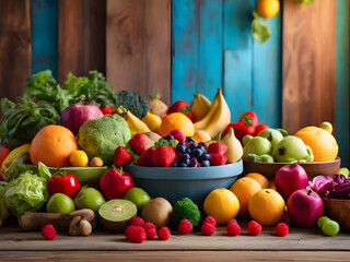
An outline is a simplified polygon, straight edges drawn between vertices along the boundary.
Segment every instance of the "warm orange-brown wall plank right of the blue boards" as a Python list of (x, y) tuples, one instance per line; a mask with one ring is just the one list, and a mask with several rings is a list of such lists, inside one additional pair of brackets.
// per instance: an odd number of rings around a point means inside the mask
[(335, 123), (336, 1), (283, 1), (282, 128)]

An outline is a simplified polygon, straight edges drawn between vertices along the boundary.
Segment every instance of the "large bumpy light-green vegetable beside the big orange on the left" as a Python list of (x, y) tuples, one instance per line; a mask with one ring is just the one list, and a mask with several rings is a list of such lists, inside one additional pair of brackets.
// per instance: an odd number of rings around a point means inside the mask
[(130, 140), (130, 129), (126, 120), (118, 115), (105, 115), (90, 119), (79, 129), (78, 144), (89, 159), (97, 156), (105, 165), (114, 163), (114, 153), (119, 145)]

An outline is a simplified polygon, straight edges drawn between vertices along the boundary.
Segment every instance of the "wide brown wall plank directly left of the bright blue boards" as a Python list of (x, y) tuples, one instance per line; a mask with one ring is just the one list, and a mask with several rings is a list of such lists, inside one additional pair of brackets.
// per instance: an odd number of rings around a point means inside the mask
[(107, 0), (107, 81), (170, 103), (171, 1)]

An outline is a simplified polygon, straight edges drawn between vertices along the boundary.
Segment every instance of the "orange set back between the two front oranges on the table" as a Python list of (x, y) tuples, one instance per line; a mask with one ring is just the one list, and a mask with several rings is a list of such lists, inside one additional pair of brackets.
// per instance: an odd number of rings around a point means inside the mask
[(260, 183), (253, 178), (244, 177), (235, 181), (231, 186), (230, 190), (237, 196), (240, 201), (238, 216), (248, 218), (249, 217), (249, 211), (248, 211), (249, 200), (256, 192), (261, 190)]

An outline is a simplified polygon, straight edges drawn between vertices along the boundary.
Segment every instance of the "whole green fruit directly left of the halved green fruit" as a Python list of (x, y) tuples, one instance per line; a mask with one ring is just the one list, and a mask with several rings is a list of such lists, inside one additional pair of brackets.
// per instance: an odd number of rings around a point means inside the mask
[(90, 209), (97, 213), (98, 209), (105, 203), (102, 193), (94, 188), (83, 188), (74, 199), (75, 206), (79, 210)]

